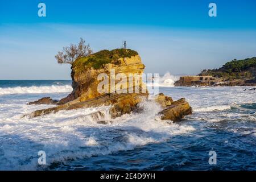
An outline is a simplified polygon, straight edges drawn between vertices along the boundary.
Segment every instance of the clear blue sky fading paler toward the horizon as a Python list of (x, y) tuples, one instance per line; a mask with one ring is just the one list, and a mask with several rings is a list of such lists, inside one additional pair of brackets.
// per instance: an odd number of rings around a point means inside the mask
[[(46, 17), (38, 16), (38, 3)], [(217, 5), (217, 17), (208, 5)], [(94, 52), (127, 41), (146, 72), (196, 74), (256, 56), (256, 1), (0, 1), (0, 79), (69, 79), (57, 51), (82, 37)]]

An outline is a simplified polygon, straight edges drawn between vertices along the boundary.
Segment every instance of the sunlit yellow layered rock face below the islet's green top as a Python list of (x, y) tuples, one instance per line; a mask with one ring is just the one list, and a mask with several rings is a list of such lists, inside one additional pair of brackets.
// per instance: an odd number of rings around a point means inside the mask
[[(114, 71), (112, 77), (116, 77), (118, 73), (125, 74), (127, 77), (127, 89), (129, 88), (129, 75), (137, 73), (143, 73), (145, 65), (142, 64), (141, 57), (131, 56), (125, 58), (119, 58), (113, 60), (112, 63), (106, 64), (102, 69), (84, 69), (82, 71), (72, 70), (71, 76), (73, 80), (73, 92), (68, 97), (63, 98), (59, 104), (65, 104), (78, 98), (79, 101), (86, 101), (98, 96), (102, 96), (105, 93), (99, 93), (97, 88), (101, 82), (97, 79), (100, 73), (106, 73), (110, 80), (110, 74)], [(131, 79), (131, 78), (130, 78)], [(113, 86), (117, 85), (118, 81), (115, 80), (115, 84), (110, 84), (109, 81), (109, 93), (111, 90), (116, 90)], [(139, 87), (145, 86), (142, 81), (139, 83)], [(128, 92), (127, 92), (128, 93)]]

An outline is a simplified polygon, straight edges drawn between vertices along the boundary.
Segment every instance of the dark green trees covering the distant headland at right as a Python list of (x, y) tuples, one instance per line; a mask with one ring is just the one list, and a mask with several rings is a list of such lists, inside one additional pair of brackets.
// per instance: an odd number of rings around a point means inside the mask
[(256, 57), (229, 61), (218, 69), (204, 69), (199, 75), (253, 80), (256, 77)]

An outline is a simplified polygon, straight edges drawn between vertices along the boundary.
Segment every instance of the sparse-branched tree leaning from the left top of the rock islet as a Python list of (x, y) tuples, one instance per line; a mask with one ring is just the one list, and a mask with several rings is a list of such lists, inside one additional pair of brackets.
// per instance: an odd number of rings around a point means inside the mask
[(55, 56), (58, 63), (68, 63), (73, 64), (73, 62), (79, 57), (85, 57), (92, 53), (92, 49), (90, 45), (85, 45), (85, 40), (80, 38), (80, 42), (78, 45), (71, 44), (69, 47), (63, 47), (62, 52), (58, 52)]

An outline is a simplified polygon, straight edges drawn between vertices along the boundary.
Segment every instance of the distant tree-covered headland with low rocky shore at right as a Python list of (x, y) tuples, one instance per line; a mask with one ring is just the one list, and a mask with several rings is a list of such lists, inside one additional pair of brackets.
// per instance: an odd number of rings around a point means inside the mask
[(256, 86), (256, 57), (229, 61), (197, 76), (183, 76), (175, 86)]

